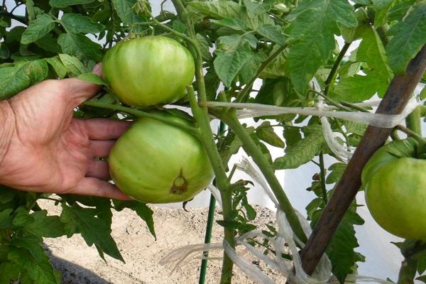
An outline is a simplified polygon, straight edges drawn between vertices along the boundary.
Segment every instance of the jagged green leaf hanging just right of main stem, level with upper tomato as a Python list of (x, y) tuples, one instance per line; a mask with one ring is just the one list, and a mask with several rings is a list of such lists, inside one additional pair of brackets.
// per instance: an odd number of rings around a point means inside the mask
[(241, 68), (253, 56), (251, 46), (257, 40), (253, 35), (226, 35), (220, 38), (219, 49), (216, 50), (217, 58), (214, 60), (214, 70), (226, 87), (239, 73)]

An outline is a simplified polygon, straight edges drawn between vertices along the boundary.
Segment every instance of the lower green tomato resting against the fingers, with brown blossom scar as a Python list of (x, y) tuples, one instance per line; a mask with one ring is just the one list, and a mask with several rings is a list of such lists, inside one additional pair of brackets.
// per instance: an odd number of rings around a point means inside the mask
[[(173, 121), (190, 121), (158, 113)], [(192, 199), (213, 179), (202, 143), (191, 133), (155, 119), (136, 121), (109, 154), (109, 172), (121, 191), (146, 203)]]

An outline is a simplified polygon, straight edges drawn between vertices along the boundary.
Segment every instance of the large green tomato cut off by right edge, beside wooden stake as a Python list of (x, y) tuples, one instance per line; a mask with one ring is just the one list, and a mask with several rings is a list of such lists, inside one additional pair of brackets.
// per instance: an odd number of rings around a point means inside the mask
[(413, 140), (380, 148), (362, 173), (366, 204), (376, 222), (404, 239), (426, 239), (426, 160)]

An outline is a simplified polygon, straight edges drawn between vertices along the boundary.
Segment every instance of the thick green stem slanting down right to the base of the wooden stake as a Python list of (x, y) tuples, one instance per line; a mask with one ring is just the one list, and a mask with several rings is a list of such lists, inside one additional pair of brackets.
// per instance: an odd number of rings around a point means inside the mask
[(281, 187), (280, 182), (275, 176), (271, 165), (268, 163), (268, 160), (266, 160), (265, 156), (263, 155), (263, 153), (261, 153), (256, 143), (254, 143), (249, 133), (246, 131), (246, 129), (244, 129), (244, 126), (239, 123), (239, 120), (235, 115), (235, 111), (229, 111), (222, 115), (219, 114), (219, 116), (222, 121), (228, 124), (229, 128), (231, 128), (232, 131), (234, 131), (234, 133), (236, 134), (236, 136), (238, 136), (238, 138), (243, 142), (244, 151), (246, 151), (247, 154), (251, 155), (253, 161), (261, 169), (263, 176), (266, 178), (266, 181), (271, 186), (271, 190), (273, 191), (273, 194), (275, 195), (276, 199), (278, 200), (278, 203), (280, 204), (280, 209), (285, 212), (288, 222), (290, 223), (291, 228), (295, 232), (295, 235), (297, 236), (297, 238), (300, 239), (300, 241), (305, 242), (307, 238), (302, 229), (302, 226), (300, 225), (299, 219), (297, 218), (295, 209), (293, 209), (290, 200), (288, 200), (288, 197), (285, 195), (283, 187)]

